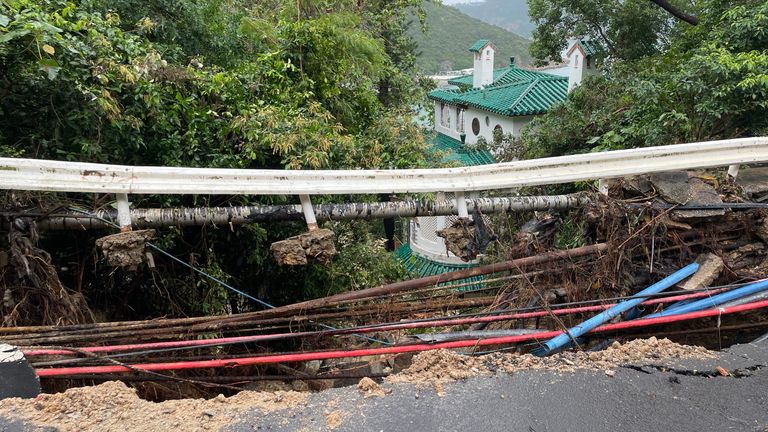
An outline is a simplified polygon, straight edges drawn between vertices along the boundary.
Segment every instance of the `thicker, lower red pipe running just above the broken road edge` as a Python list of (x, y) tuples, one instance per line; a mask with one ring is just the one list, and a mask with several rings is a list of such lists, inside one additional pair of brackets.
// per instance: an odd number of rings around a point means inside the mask
[[(687, 321), (697, 318), (706, 318), (718, 315), (727, 315), (737, 312), (744, 312), (749, 310), (755, 310), (768, 307), (768, 300), (748, 303), (739, 306), (732, 306), (728, 308), (707, 309), (698, 312), (690, 312), (687, 314), (670, 315), (658, 318), (647, 318), (634, 321), (624, 321), (615, 324), (606, 324), (600, 326), (590, 333), (594, 332), (608, 332), (614, 330), (623, 330), (637, 327), (647, 327), (657, 324), (669, 324), (673, 322)], [(170, 362), (170, 363), (147, 363), (132, 365), (138, 369), (144, 369), (148, 371), (164, 371), (164, 370), (180, 370), (180, 369), (200, 369), (200, 368), (217, 368), (217, 367), (236, 367), (236, 366), (248, 366), (256, 364), (272, 364), (272, 363), (287, 363), (287, 362), (302, 362), (310, 360), (326, 360), (334, 358), (348, 358), (348, 357), (363, 357), (371, 355), (382, 354), (398, 354), (407, 352), (418, 352), (435, 349), (447, 349), (447, 348), (468, 348), (474, 346), (486, 346), (486, 345), (500, 345), (509, 343), (519, 343), (531, 340), (549, 339), (561, 334), (561, 331), (550, 331), (545, 333), (536, 333), (530, 335), (517, 335), (517, 336), (503, 336), (487, 339), (471, 339), (451, 342), (441, 342), (434, 344), (413, 344), (413, 345), (400, 345), (390, 346), (382, 348), (368, 348), (359, 350), (347, 350), (347, 351), (320, 351), (320, 352), (308, 352), (308, 353), (293, 353), (293, 354), (277, 354), (277, 355), (265, 355), (259, 357), (245, 357), (236, 359), (219, 359), (219, 360), (201, 360), (201, 361), (187, 361), (187, 362)], [(69, 367), (69, 368), (51, 368), (51, 369), (37, 369), (35, 372), (39, 377), (56, 376), (56, 375), (77, 375), (77, 374), (103, 374), (103, 373), (117, 373), (117, 372), (132, 372), (133, 369), (129, 369), (124, 366), (82, 366), (82, 367)]]

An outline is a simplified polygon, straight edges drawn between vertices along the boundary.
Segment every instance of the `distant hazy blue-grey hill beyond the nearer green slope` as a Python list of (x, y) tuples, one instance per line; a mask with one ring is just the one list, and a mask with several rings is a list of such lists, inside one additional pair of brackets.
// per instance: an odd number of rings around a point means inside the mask
[(454, 5), (461, 12), (489, 24), (497, 25), (521, 36), (530, 38), (536, 26), (528, 16), (526, 0), (485, 0)]

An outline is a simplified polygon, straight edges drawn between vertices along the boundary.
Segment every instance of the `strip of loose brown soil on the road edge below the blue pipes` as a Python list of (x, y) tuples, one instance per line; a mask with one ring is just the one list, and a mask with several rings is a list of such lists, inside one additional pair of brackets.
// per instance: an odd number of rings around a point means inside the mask
[(513, 373), (526, 369), (572, 372), (576, 369), (609, 370), (625, 363), (657, 362), (673, 358), (715, 358), (717, 353), (702, 347), (680, 345), (669, 339), (637, 339), (614, 342), (603, 351), (565, 352), (549, 357), (530, 354), (488, 354), (471, 357), (453, 351), (426, 351), (413, 358), (412, 365), (390, 382), (411, 382), (420, 386), (456, 381), (495, 372)]

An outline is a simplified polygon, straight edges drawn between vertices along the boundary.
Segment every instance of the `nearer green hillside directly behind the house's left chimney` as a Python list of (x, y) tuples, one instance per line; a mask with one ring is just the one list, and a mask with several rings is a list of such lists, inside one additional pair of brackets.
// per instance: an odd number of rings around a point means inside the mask
[(425, 73), (472, 67), (472, 56), (467, 49), (478, 39), (489, 39), (496, 45), (496, 66), (509, 64), (509, 57), (518, 58), (518, 64), (529, 64), (530, 41), (461, 13), (458, 9), (425, 2), (427, 32), (413, 25), (410, 33), (418, 43), (417, 67)]

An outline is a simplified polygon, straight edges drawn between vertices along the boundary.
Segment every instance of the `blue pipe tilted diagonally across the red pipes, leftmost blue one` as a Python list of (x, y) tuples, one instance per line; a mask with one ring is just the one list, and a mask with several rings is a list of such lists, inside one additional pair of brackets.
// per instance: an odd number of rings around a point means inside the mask
[(571, 342), (571, 339), (575, 339), (583, 335), (584, 333), (587, 333), (588, 331), (594, 329), (600, 324), (613, 319), (614, 317), (618, 316), (622, 312), (626, 312), (629, 309), (632, 309), (633, 307), (647, 300), (647, 297), (642, 297), (642, 296), (657, 294), (661, 291), (664, 291), (665, 289), (671, 287), (672, 285), (696, 273), (698, 269), (699, 269), (699, 265), (697, 263), (688, 264), (687, 266), (681, 268), (680, 270), (672, 273), (671, 275), (665, 277), (664, 279), (656, 282), (655, 284), (635, 294), (635, 296), (637, 296), (638, 298), (623, 301), (617, 304), (616, 306), (613, 306), (593, 316), (592, 318), (582, 322), (581, 324), (578, 324), (577, 326), (568, 329), (568, 331), (548, 340), (544, 344), (544, 346), (531, 351), (531, 354), (536, 356), (545, 356), (562, 349), (568, 343)]

